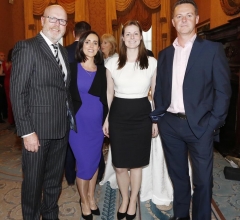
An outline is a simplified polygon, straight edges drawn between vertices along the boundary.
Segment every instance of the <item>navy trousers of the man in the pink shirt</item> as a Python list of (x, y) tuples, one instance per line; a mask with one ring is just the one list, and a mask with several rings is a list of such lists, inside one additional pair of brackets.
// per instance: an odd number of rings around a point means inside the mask
[(171, 113), (160, 117), (159, 133), (169, 176), (173, 183), (173, 212), (176, 217), (187, 217), (191, 202), (188, 155), (192, 164), (193, 196), (192, 219), (211, 219), (213, 129), (208, 127), (201, 138), (196, 138), (188, 121)]

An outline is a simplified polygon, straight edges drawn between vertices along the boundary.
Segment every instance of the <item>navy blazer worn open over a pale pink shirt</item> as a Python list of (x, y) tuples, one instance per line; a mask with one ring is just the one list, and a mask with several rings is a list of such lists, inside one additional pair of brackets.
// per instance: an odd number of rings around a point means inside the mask
[[(217, 55), (217, 56), (216, 56)], [(159, 53), (154, 94), (155, 110), (150, 116), (166, 112), (171, 102), (173, 45)], [(189, 125), (200, 138), (208, 126), (223, 126), (231, 96), (230, 70), (220, 43), (197, 37), (183, 81), (183, 102)]]

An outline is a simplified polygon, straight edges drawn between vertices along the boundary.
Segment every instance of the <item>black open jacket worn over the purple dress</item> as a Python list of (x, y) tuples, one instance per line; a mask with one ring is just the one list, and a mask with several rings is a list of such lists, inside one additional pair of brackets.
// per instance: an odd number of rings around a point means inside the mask
[[(77, 73), (78, 63), (70, 63), (71, 70), (71, 83), (70, 93), (72, 97), (72, 103), (75, 114), (78, 112), (82, 105), (81, 94), (79, 94), (77, 86)], [(106, 79), (106, 68), (104, 65), (97, 66), (97, 72), (93, 79), (91, 88), (88, 91), (89, 94), (100, 97), (100, 101), (103, 104), (103, 123), (108, 114), (108, 103), (107, 103), (107, 79)]]

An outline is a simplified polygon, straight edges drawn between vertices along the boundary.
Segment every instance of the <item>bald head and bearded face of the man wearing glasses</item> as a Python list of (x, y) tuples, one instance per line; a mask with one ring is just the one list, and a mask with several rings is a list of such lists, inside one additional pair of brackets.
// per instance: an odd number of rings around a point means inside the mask
[(59, 5), (52, 5), (46, 8), (43, 16), (41, 17), (43, 34), (52, 43), (57, 43), (65, 34), (66, 26), (60, 25), (59, 21), (56, 23), (49, 22), (49, 18), (47, 18), (47, 16), (67, 20), (67, 14), (65, 10)]

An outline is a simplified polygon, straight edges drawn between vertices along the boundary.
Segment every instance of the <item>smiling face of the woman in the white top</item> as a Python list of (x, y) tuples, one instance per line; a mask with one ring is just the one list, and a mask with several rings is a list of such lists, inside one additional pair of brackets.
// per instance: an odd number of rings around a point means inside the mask
[(127, 48), (137, 48), (142, 40), (139, 28), (136, 25), (129, 25), (125, 27), (122, 39)]

